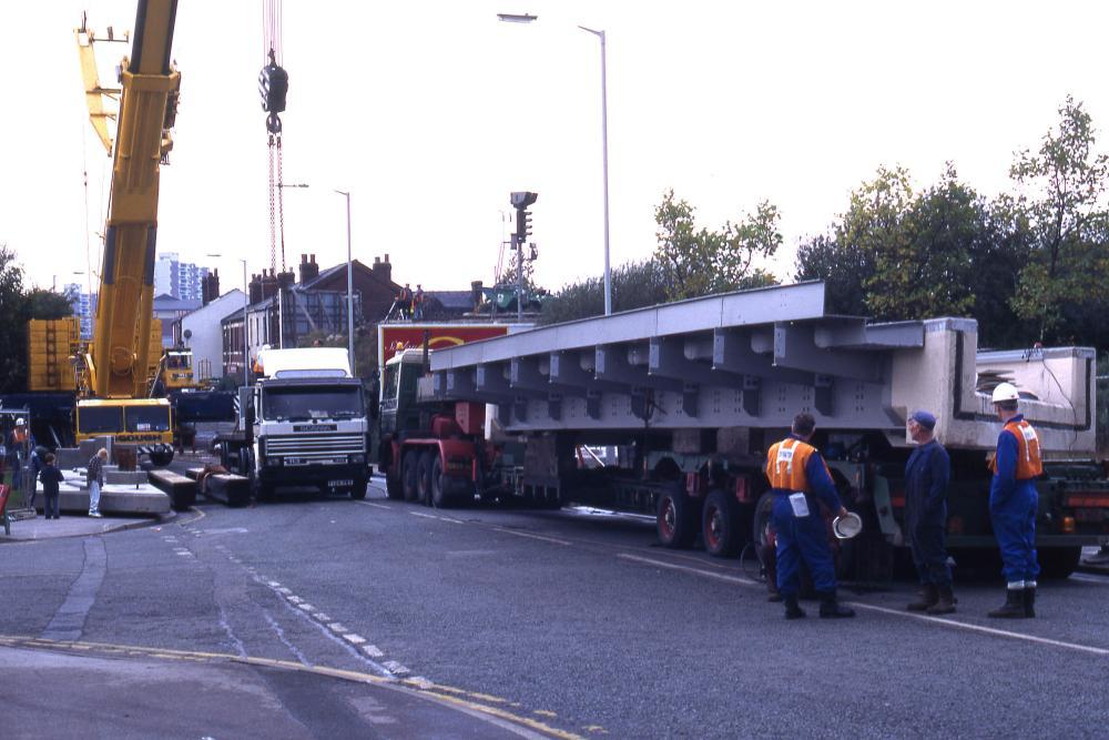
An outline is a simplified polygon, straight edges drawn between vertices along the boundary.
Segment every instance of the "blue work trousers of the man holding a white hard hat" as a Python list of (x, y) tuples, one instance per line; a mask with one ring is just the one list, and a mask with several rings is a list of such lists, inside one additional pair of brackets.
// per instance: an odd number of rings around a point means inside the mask
[(774, 497), (771, 521), (777, 531), (777, 590), (782, 596), (791, 596), (800, 590), (797, 570), (802, 559), (808, 566), (808, 574), (817, 592), (835, 590), (835, 565), (820, 504), (812, 496), (806, 498), (808, 516), (797, 517), (790, 506), (788, 493)]

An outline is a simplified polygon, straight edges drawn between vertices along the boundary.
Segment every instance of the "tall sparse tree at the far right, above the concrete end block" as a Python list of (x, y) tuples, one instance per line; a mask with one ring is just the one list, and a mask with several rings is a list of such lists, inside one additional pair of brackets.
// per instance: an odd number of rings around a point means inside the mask
[(1009, 171), (1034, 235), (1011, 305), (1037, 323), (1041, 341), (1070, 334), (1065, 320), (1083, 303), (1109, 300), (1109, 158), (1095, 152), (1092, 120), (1080, 102), (1068, 95), (1058, 112), (1058, 128), (1036, 152), (1019, 152)]

